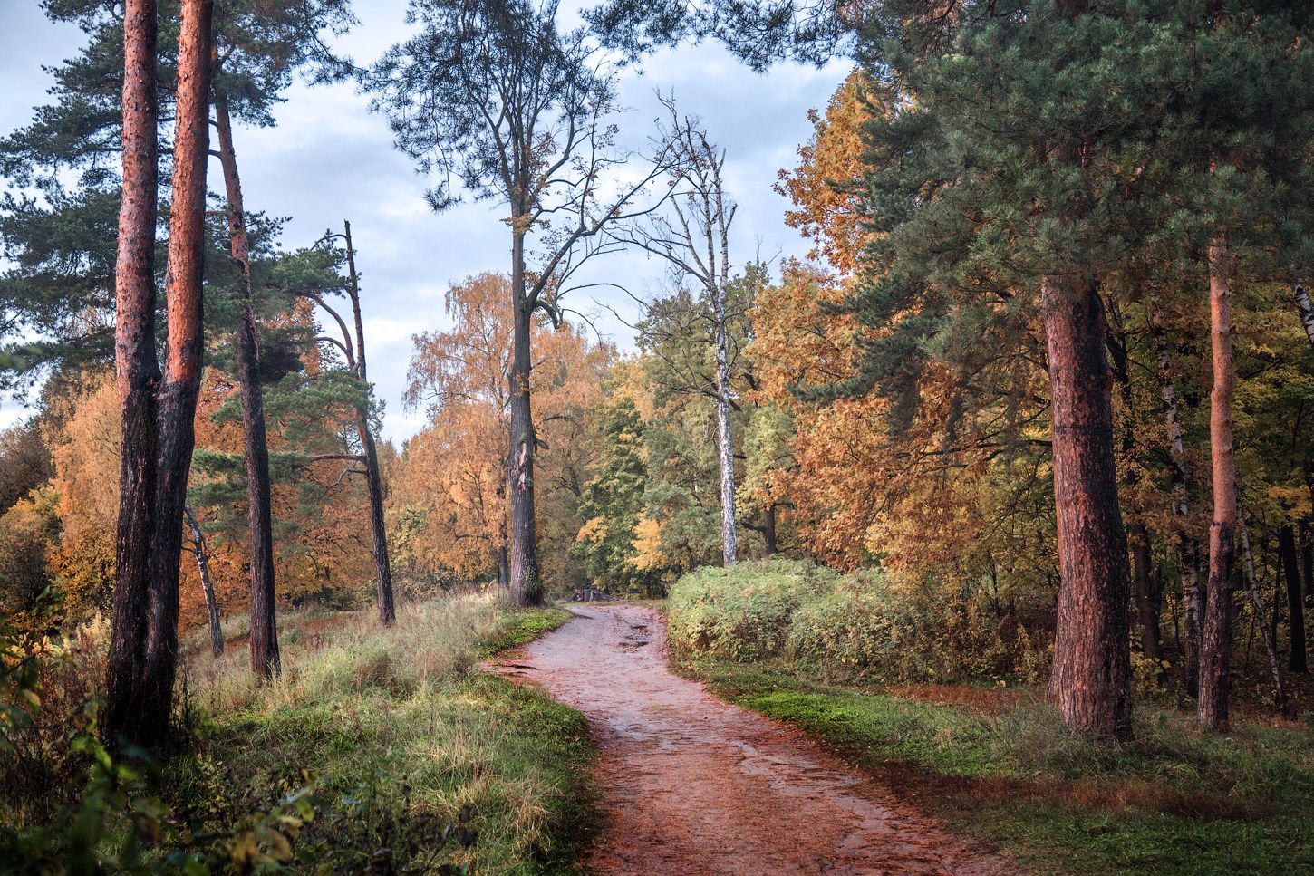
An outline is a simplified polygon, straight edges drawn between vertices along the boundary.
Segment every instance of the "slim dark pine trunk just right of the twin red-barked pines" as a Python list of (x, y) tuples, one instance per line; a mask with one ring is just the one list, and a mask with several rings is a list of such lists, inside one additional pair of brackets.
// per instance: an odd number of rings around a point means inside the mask
[(273, 508), (269, 498), (269, 444), (264, 423), (260, 347), (252, 311), (251, 251), (247, 239), (242, 179), (233, 148), (233, 122), (226, 99), (214, 101), (219, 162), (229, 201), (233, 261), (242, 273), (244, 297), (238, 324), (238, 380), (242, 383), (242, 440), (247, 469), (247, 532), (251, 553), (251, 671), (263, 678), (280, 667), (276, 591), (273, 580)]

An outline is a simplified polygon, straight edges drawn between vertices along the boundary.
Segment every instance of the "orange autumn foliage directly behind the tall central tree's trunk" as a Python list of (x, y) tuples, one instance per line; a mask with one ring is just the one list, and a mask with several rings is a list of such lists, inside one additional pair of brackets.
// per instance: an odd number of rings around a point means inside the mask
[[(407, 402), (424, 405), (430, 424), (397, 461), (389, 500), (401, 563), (413, 577), (497, 575), (507, 538), (507, 284), (497, 273), (468, 277), (447, 296), (453, 327), (415, 336)], [(540, 556), (549, 582), (573, 582), (568, 548), (583, 525), (576, 502), (589, 464), (586, 419), (602, 398), (615, 349), (590, 344), (569, 323), (555, 330), (543, 319), (531, 344)]]

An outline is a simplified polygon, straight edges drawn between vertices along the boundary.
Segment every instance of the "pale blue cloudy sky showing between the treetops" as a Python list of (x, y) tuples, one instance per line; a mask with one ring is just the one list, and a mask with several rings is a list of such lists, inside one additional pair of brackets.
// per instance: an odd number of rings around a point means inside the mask
[[(372, 62), (411, 33), (406, 0), (355, 5), (360, 24), (334, 47), (357, 63)], [(0, 0), (0, 131), (30, 121), (51, 83), (42, 66), (72, 56), (80, 45), (81, 33), (46, 20), (38, 0)], [(656, 92), (674, 92), (681, 112), (699, 117), (725, 148), (727, 190), (740, 205), (732, 261), (802, 256), (808, 247), (784, 225), (788, 205), (773, 185), (781, 168), (798, 163), (796, 150), (811, 137), (808, 109), (824, 108), (846, 72), (846, 63), (833, 62), (821, 70), (790, 64), (754, 74), (716, 45), (666, 50), (641, 71), (620, 72), (622, 144), (645, 146), (662, 114)], [(422, 410), (402, 405), (411, 338), (449, 326), (444, 294), (453, 282), (506, 269), (505, 208), (465, 202), (435, 214), (423, 197), (430, 183), (393, 147), (385, 118), (351, 84), (298, 83), (285, 97), (275, 113), (277, 126), (234, 131), (246, 206), (289, 219), (286, 248), (309, 246), (326, 229), (351, 221), (369, 377), (385, 403), (384, 437), (401, 444), (424, 426)], [(210, 188), (222, 190), (217, 165), (212, 162)], [(622, 252), (590, 264), (581, 281), (614, 282), (650, 298), (668, 277), (660, 260)], [(633, 348), (625, 323), (635, 322), (639, 305), (624, 292), (590, 289), (566, 303), (589, 314), (604, 339)], [(22, 402), (0, 397), (0, 428), (26, 415)]]

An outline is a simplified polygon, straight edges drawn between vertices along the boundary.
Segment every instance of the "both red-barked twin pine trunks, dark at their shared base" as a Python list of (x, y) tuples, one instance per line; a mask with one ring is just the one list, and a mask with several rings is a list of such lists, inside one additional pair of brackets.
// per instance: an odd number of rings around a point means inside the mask
[(116, 364), (122, 474), (113, 633), (102, 726), (110, 739), (163, 742), (177, 662), (183, 504), (201, 381), (201, 271), (209, 151), (212, 0), (185, 0), (179, 37), (173, 197), (163, 373), (155, 356), (158, 185), (156, 9), (129, 0), (124, 20), (124, 196), (116, 272)]

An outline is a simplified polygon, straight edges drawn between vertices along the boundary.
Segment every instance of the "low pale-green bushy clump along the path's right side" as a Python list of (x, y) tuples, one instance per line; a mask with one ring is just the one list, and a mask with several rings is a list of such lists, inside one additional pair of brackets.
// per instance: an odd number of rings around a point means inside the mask
[(669, 603), (681, 658), (783, 661), (828, 680), (1034, 680), (1043, 672), (1026, 630), (934, 588), (904, 590), (879, 570), (851, 575), (771, 559), (699, 569)]

